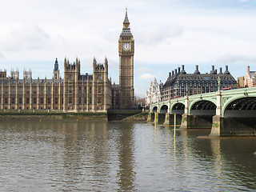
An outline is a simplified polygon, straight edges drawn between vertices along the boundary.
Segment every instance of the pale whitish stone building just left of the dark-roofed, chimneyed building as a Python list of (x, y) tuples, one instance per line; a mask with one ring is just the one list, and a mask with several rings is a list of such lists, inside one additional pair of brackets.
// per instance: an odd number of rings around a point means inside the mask
[(157, 82), (157, 79), (154, 78), (150, 82), (149, 90), (146, 90), (146, 106), (150, 106), (151, 103), (162, 101), (162, 82)]

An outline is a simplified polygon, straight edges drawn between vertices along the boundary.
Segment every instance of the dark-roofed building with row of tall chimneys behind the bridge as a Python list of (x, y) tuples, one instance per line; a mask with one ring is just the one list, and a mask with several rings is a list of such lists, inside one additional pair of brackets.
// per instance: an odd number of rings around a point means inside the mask
[(214, 92), (218, 90), (218, 81), (221, 90), (237, 86), (237, 82), (230, 74), (228, 66), (226, 66), (224, 73), (222, 73), (222, 68), (217, 73), (217, 70), (214, 70), (214, 66), (212, 66), (209, 74), (201, 74), (198, 66), (195, 66), (194, 73), (187, 74), (184, 65), (182, 65), (182, 70), (178, 67), (178, 70), (175, 69), (169, 73), (169, 77), (162, 86), (162, 99)]

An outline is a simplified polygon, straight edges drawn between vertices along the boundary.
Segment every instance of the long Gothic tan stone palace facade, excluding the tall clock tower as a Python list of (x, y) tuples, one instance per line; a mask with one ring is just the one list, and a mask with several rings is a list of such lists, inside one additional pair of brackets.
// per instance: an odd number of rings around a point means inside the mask
[[(58, 60), (52, 79), (0, 79), (1, 110), (63, 110), (64, 112), (98, 111), (111, 108), (111, 83), (108, 62), (98, 64), (94, 58), (93, 74), (80, 74), (80, 61), (64, 61), (64, 78), (59, 77)], [(29, 76), (29, 77), (28, 77)]]

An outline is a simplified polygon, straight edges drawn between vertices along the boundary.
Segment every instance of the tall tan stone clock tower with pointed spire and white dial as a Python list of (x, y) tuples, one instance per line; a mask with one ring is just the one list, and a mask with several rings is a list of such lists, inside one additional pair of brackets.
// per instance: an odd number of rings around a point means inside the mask
[(118, 41), (120, 109), (134, 109), (134, 36), (127, 15)]

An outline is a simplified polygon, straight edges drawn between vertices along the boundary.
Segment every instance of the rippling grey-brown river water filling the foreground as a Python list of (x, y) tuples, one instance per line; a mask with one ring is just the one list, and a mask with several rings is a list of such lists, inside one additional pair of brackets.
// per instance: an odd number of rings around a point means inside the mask
[(256, 190), (255, 138), (141, 122), (0, 122), (0, 191)]

